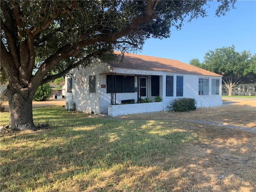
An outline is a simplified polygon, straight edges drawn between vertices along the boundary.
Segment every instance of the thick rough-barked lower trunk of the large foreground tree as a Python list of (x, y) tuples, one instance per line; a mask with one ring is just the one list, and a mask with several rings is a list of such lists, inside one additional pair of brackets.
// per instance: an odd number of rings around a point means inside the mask
[[(10, 107), (10, 120), (9, 126), (13, 130), (35, 130), (36, 126), (33, 122), (32, 114), (32, 100), (33, 96), (29, 92), (10, 92), (10, 89), (7, 88), (6, 92), (9, 107)], [(30, 96), (28, 96), (30, 95)]]

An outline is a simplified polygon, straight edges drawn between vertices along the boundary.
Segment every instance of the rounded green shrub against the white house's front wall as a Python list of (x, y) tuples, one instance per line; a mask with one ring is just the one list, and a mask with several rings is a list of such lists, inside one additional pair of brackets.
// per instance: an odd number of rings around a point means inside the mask
[(188, 112), (196, 110), (196, 100), (193, 98), (178, 98), (170, 102), (171, 106), (167, 106), (171, 111)]

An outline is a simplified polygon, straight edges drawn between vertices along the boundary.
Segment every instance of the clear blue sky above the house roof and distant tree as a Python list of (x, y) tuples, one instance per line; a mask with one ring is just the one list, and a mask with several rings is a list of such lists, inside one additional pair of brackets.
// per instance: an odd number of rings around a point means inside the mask
[[(213, 2), (215, 5), (217, 2)], [(232, 46), (236, 51), (256, 53), (256, 1), (239, 0), (236, 9), (225, 16), (215, 16), (216, 6), (208, 8), (208, 17), (184, 23), (182, 29), (173, 29), (168, 39), (149, 39), (137, 54), (176, 59), (189, 63), (193, 58), (200, 62), (209, 50)]]

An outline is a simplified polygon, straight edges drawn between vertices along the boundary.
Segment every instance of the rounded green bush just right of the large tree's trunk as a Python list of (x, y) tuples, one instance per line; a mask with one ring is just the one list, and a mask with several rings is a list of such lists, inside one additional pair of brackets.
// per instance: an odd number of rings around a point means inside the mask
[(51, 94), (52, 94), (52, 87), (50, 86), (50, 83), (46, 83), (37, 88), (33, 100), (46, 101), (50, 98)]

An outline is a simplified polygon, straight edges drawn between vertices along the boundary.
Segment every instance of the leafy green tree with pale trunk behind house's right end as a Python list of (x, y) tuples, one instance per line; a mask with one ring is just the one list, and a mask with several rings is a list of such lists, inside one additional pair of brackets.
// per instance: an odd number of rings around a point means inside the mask
[[(235, 51), (234, 45), (230, 47), (210, 50), (204, 56), (204, 62), (200, 68), (222, 75), (222, 82), (228, 88), (228, 95), (232, 95), (232, 89), (244, 82), (246, 78), (254, 78), (256, 74), (256, 56), (251, 57), (250, 51)], [(190, 64), (198, 65), (194, 60)], [(196, 66), (195, 65), (195, 66)]]

